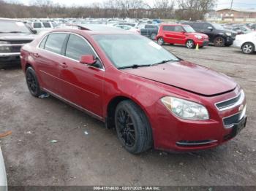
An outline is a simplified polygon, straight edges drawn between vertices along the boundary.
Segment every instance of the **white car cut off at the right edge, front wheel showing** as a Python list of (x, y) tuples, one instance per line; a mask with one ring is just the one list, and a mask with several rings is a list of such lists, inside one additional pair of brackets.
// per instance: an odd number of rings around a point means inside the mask
[(240, 48), (245, 54), (252, 54), (256, 51), (256, 31), (249, 34), (237, 35), (233, 46)]

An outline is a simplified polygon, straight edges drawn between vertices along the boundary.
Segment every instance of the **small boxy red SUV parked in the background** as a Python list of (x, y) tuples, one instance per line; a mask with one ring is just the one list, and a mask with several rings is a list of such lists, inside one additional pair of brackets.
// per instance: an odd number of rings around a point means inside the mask
[(195, 32), (188, 25), (161, 25), (157, 34), (157, 42), (159, 45), (169, 44), (184, 44), (187, 48), (195, 48), (208, 45), (209, 39), (206, 34)]

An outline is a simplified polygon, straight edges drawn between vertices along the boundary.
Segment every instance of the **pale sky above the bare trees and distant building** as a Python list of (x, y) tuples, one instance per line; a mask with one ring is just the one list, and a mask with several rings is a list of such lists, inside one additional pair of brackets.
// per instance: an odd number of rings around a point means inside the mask
[[(13, 0), (10, 0), (13, 1)], [(17, 0), (14, 0), (17, 1)], [(18, 0), (23, 4), (29, 4), (30, 0)], [(54, 3), (64, 4), (66, 6), (72, 5), (85, 5), (85, 4), (92, 4), (94, 2), (101, 3), (104, 0), (52, 0)], [(148, 4), (152, 4), (152, 0), (146, 0)], [(218, 0), (217, 1), (217, 9), (224, 9), (230, 8), (232, 0)], [(240, 8), (240, 9), (256, 9), (256, 0), (233, 0), (233, 8)]]

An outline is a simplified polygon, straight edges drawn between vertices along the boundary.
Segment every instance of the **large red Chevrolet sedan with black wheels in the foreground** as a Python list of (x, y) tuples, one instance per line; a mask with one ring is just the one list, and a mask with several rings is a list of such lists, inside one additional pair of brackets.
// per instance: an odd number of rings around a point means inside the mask
[(32, 95), (50, 93), (97, 117), (134, 154), (217, 147), (246, 125), (244, 91), (233, 79), (139, 34), (59, 29), (20, 57)]

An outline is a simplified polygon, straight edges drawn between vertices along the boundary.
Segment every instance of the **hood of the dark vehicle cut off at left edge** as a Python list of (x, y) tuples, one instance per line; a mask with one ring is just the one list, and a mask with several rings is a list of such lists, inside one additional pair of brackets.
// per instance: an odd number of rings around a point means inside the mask
[(12, 34), (12, 33), (3, 33), (0, 34), (0, 40), (4, 41), (23, 41), (23, 40), (34, 40), (36, 35), (34, 34)]

